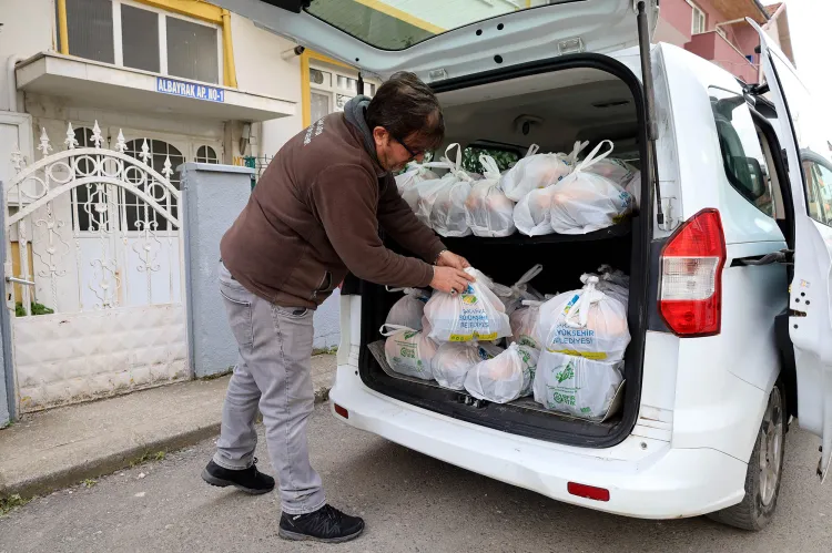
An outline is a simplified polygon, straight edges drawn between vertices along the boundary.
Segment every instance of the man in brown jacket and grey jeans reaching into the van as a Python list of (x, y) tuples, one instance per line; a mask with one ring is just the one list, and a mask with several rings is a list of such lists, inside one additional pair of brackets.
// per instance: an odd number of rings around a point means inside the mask
[[(356, 96), (290, 140), (270, 163), (220, 245), (220, 291), (240, 359), (229, 382), (216, 453), (202, 478), (252, 494), (274, 489), (257, 471), (260, 408), (280, 479), (278, 533), (343, 542), (364, 521), (326, 503), (310, 464), (313, 411), (312, 315), (347, 270), (396, 287), (464, 290), (473, 280), (399, 197), (392, 173), (442, 144), (436, 96), (412, 73), (397, 73), (376, 96)], [(397, 255), (378, 227), (422, 259)]]

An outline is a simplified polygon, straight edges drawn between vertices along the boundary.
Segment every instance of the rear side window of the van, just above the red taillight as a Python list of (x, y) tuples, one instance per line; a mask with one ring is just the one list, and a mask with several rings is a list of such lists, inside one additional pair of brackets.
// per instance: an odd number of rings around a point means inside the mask
[(773, 217), (771, 173), (745, 99), (723, 89), (708, 91), (728, 182), (758, 209)]

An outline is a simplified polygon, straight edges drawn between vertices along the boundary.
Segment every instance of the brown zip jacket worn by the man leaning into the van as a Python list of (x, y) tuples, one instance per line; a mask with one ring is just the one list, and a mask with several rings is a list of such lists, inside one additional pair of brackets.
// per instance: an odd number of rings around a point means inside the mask
[(281, 149), (220, 244), (223, 263), (240, 284), (283, 307), (312, 309), (347, 270), (382, 285), (430, 284), (430, 265), (390, 252), (378, 237), (381, 224), (430, 263), (444, 249), (368, 146), (361, 129), (334, 113)]

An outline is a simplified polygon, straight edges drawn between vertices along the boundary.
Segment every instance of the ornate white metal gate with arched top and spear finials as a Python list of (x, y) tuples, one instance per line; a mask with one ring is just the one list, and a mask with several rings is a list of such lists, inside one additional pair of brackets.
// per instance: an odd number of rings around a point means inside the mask
[(17, 171), (7, 209), (7, 306), (20, 411), (132, 391), (186, 378), (184, 243), (173, 167), (102, 147), (65, 150)]

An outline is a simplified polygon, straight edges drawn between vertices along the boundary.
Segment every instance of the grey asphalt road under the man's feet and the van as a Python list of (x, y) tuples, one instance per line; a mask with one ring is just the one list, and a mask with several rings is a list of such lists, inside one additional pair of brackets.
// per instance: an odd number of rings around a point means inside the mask
[[(261, 449), (261, 468), (272, 472)], [(0, 518), (0, 552), (832, 551), (832, 484), (819, 485), (816, 441), (797, 430), (787, 443), (775, 520), (760, 533), (707, 519), (642, 521), (558, 503), (351, 429), (325, 406), (312, 420), (311, 449), (329, 500), (367, 521), (357, 541), (278, 539), (276, 493), (252, 498), (202, 482), (213, 452), (207, 440)]]

